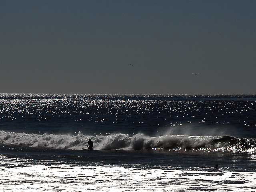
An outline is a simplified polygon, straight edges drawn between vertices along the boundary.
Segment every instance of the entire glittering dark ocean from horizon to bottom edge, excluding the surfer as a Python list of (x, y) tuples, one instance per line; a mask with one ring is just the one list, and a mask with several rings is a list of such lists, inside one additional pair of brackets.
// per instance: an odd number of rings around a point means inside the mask
[(256, 95), (0, 94), (0, 191), (252, 192), (255, 164)]

